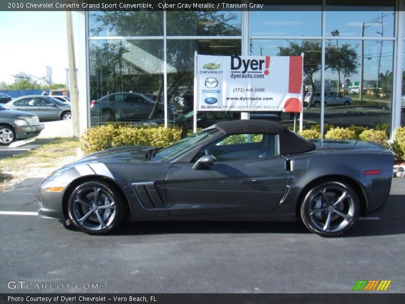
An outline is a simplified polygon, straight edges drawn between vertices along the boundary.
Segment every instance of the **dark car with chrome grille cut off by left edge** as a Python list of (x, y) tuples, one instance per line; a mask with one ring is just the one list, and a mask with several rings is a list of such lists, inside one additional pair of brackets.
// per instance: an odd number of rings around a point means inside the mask
[(36, 115), (10, 110), (0, 104), (0, 145), (9, 145), (14, 140), (38, 136), (44, 130)]

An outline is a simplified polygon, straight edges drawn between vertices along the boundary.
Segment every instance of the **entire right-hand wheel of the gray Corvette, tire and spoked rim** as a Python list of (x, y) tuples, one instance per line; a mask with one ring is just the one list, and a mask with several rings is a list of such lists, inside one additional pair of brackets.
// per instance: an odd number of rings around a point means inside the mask
[(301, 205), (301, 218), (311, 232), (321, 237), (337, 237), (356, 223), (359, 209), (359, 199), (353, 188), (345, 182), (332, 180), (309, 189)]

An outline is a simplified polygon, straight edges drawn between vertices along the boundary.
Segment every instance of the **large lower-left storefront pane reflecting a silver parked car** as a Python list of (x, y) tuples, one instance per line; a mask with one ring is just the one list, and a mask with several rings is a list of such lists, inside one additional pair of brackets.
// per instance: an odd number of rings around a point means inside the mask
[(91, 124), (147, 119), (163, 96), (163, 40), (90, 41), (89, 52)]

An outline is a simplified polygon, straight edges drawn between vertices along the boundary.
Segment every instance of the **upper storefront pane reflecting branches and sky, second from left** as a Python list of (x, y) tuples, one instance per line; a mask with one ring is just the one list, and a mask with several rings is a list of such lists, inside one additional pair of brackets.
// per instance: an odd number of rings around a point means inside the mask
[(239, 36), (241, 12), (169, 11), (169, 36)]

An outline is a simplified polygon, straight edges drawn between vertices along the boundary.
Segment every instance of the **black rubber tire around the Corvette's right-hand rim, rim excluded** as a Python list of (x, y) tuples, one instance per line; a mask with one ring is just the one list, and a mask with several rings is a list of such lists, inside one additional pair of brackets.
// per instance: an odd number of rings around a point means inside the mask
[[(313, 199), (313, 196), (316, 192), (318, 192), (321, 188), (325, 186), (340, 186), (345, 188), (347, 192), (350, 193), (351, 197), (353, 198), (354, 202), (354, 215), (352, 221), (344, 227), (342, 230), (337, 231), (337, 232), (325, 232), (325, 231), (320, 231), (313, 223), (309, 215), (309, 207), (310, 207), (310, 202)], [(344, 234), (346, 231), (348, 231), (356, 222), (359, 216), (359, 211), (360, 211), (360, 202), (358, 199), (358, 195), (356, 192), (353, 190), (353, 188), (347, 184), (346, 182), (342, 181), (326, 181), (323, 182), (317, 186), (312, 187), (307, 194), (305, 195), (304, 201), (301, 205), (301, 219), (304, 222), (305, 226), (313, 233), (320, 235), (322, 237), (337, 237), (342, 234)]]

